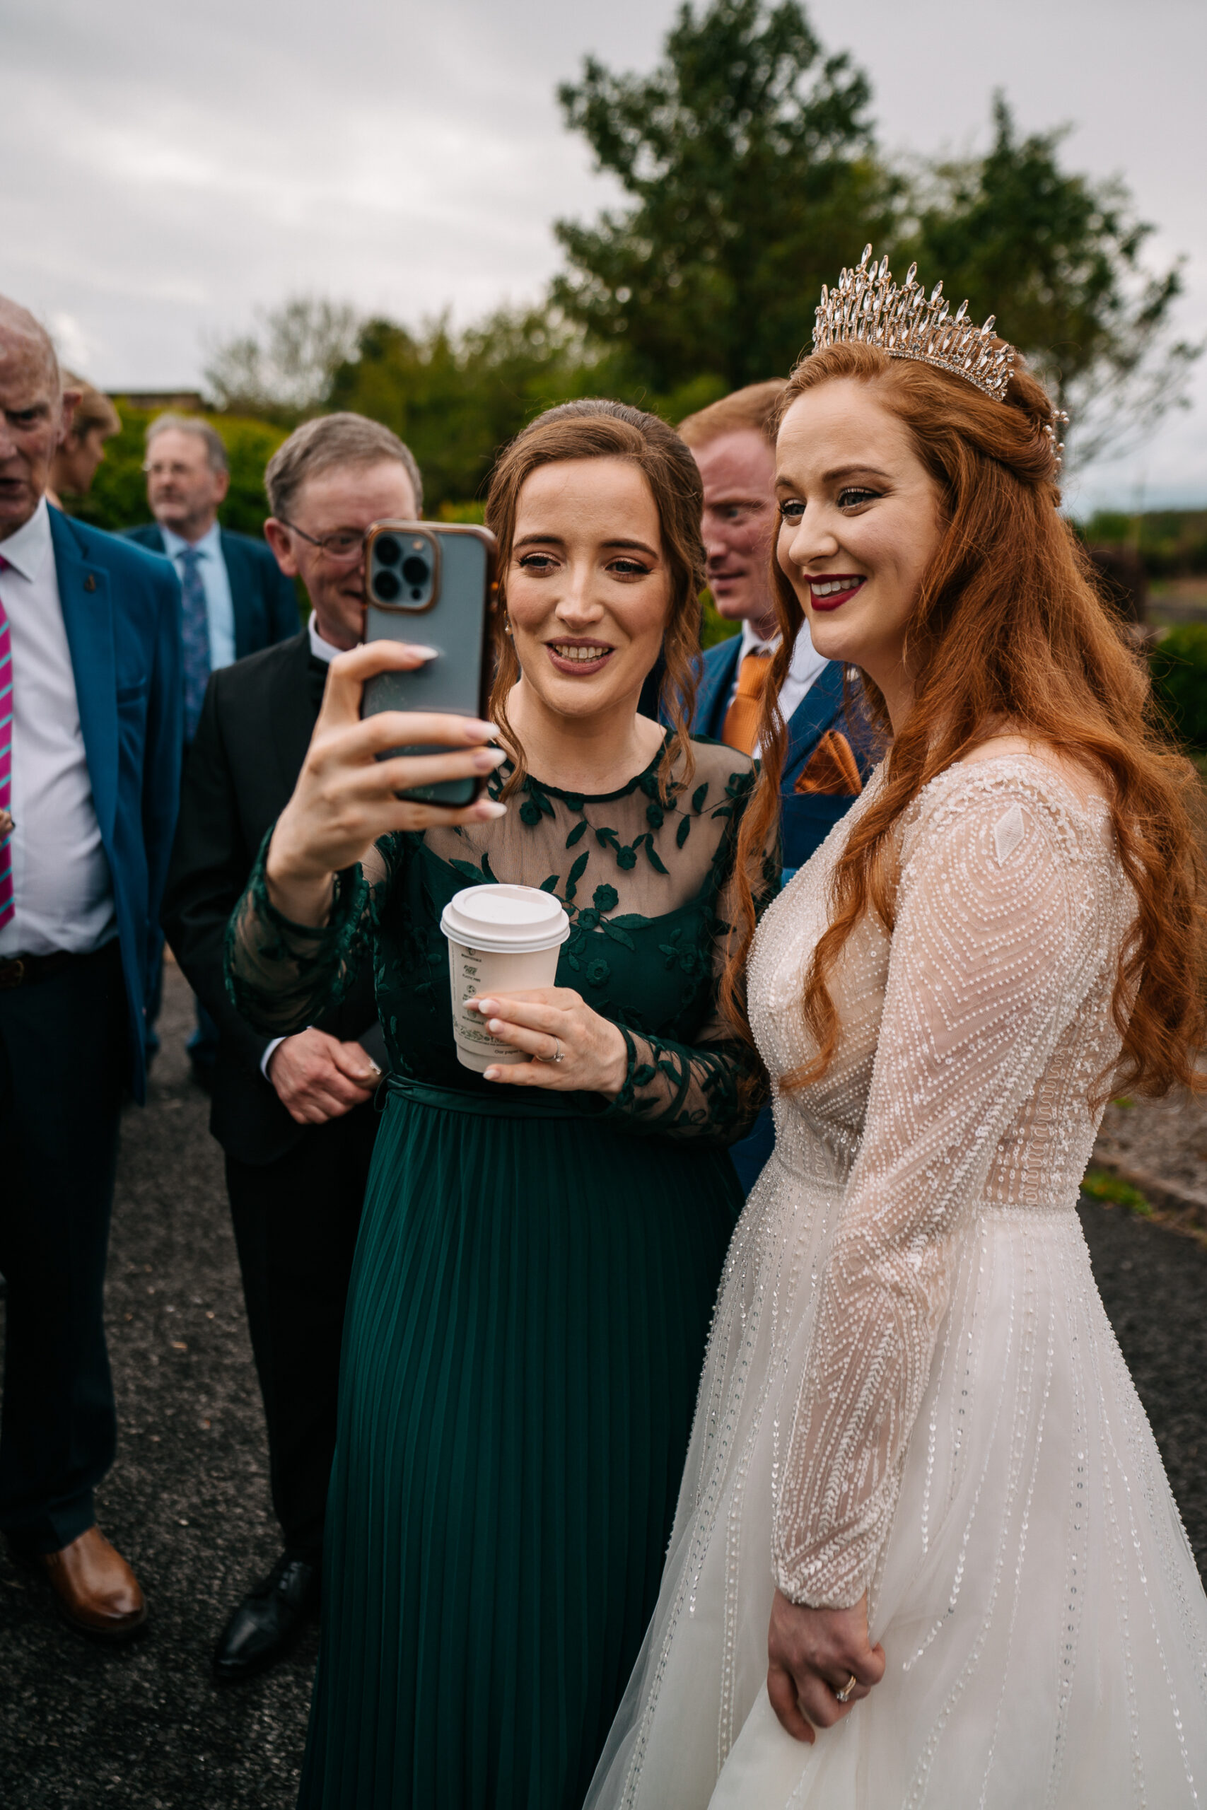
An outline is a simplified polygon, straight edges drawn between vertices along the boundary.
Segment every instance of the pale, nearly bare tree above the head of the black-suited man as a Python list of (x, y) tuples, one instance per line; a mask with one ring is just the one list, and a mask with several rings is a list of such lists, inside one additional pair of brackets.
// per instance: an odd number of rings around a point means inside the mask
[(317, 409), (355, 353), (360, 320), (347, 302), (295, 295), (259, 311), (261, 333), (219, 342), (204, 382), (221, 409), (293, 427)]

